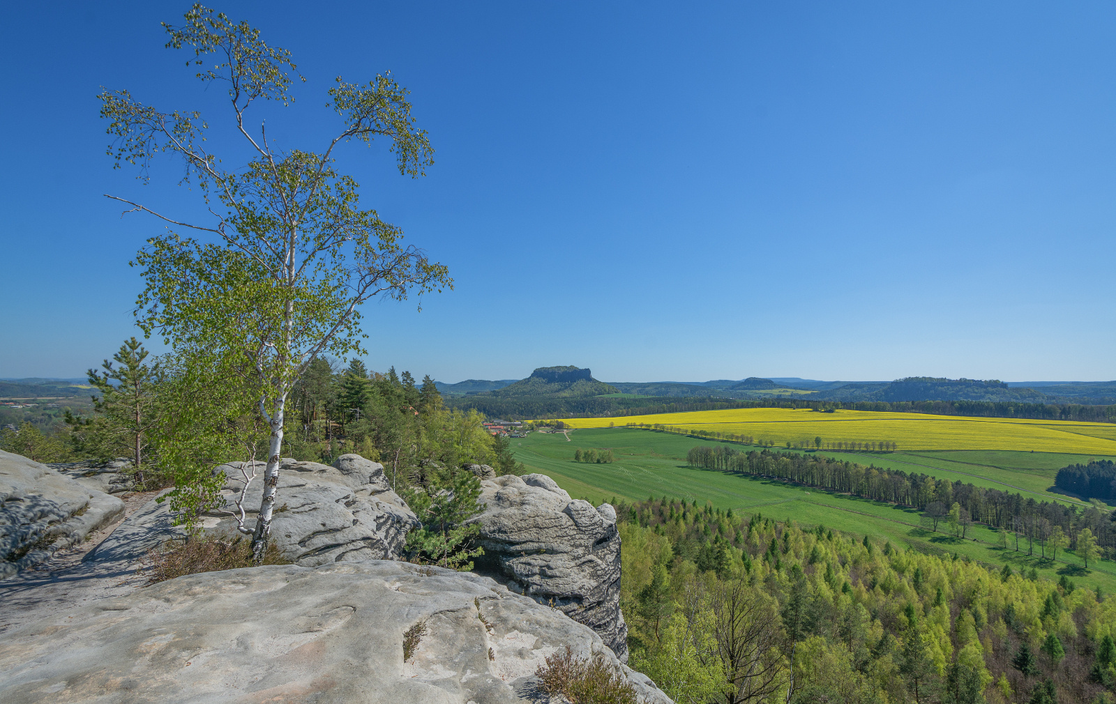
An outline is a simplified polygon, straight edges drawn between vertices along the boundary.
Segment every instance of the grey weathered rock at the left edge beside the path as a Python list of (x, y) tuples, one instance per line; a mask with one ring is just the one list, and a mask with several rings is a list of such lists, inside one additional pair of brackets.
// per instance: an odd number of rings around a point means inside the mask
[(0, 579), (45, 562), (123, 513), (116, 496), (0, 451)]

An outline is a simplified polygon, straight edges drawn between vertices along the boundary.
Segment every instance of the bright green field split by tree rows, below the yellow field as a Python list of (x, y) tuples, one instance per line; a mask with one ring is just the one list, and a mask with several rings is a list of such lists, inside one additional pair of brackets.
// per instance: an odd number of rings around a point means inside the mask
[[(586, 498), (594, 503), (602, 501), (639, 501), (648, 496), (675, 496), (686, 501), (696, 500), (699, 504), (706, 502), (722, 509), (733, 509), (744, 513), (760, 512), (777, 520), (795, 520), (806, 525), (824, 524), (836, 530), (856, 534), (870, 534), (879, 539), (891, 540), (898, 546), (913, 546), (920, 550), (942, 550), (950, 553), (966, 556), (983, 562), (1003, 565), (1009, 562), (1013, 568), (1030, 569), (1035, 567), (1039, 573), (1058, 579), (1059, 570), (1068, 572), (1072, 579), (1089, 587), (1103, 587), (1106, 591), (1116, 590), (1116, 563), (1103, 561), (1089, 568), (1087, 575), (1081, 573), (1080, 561), (1072, 553), (1059, 553), (1058, 562), (1041, 561), (1037, 557), (1028, 559), (1026, 544), (1020, 542), (1020, 552), (1003, 550), (997, 546), (997, 536), (982, 525), (973, 525), (969, 539), (959, 540), (941, 532), (934, 533), (920, 527), (917, 511), (902, 509), (886, 503), (834, 494), (822, 490), (795, 486), (783, 482), (763, 480), (753, 476), (725, 474), (685, 466), (685, 454), (694, 445), (716, 445), (716, 442), (702, 441), (682, 435), (654, 433), (627, 428), (593, 428), (569, 433), (569, 440), (564, 434), (530, 433), (527, 437), (512, 441), (512, 450), (517, 460), (529, 470), (548, 474), (575, 498)], [(612, 449), (616, 456), (613, 464), (581, 464), (574, 462), (574, 451), (577, 449)], [(892, 460), (895, 469), (920, 471), (937, 475), (942, 472), (956, 474), (961, 472), (984, 472), (984, 467), (999, 469), (1002, 474), (997, 479), (1011, 479), (1020, 482), (1028, 476), (1027, 472), (1050, 472), (1049, 466), (1039, 466), (1035, 457), (1016, 457), (1030, 453), (893, 453), (891, 455), (850, 455), (837, 453), (840, 456), (859, 461), (864, 464), (875, 461), (876, 465), (886, 466), (884, 460)], [(1039, 454), (1039, 453), (1036, 453)], [(902, 455), (902, 460), (901, 460)], [(950, 455), (950, 456), (941, 456)], [(1061, 455), (1047, 457), (1045, 464), (1062, 462), (1065, 457), (1079, 455)], [(997, 465), (973, 465), (968, 460), (982, 462), (995, 461)], [(1088, 457), (1085, 457), (1086, 460)], [(905, 467), (898, 461), (920, 463), (924, 466)], [(949, 469), (941, 469), (942, 464)], [(1059, 464), (1058, 466), (1062, 466)], [(973, 471), (975, 470), (975, 471)], [(1041, 478), (1041, 474), (1033, 474)], [(1050, 474), (1052, 476), (1052, 473)], [(989, 480), (958, 475), (956, 479), (971, 481), (979, 485), (991, 485), (1007, 489)], [(1041, 483), (1039, 481), (1038, 483)], [(1049, 486), (1049, 483), (1047, 484)], [(1024, 494), (1027, 495), (1027, 494)], [(972, 538), (975, 538), (973, 540)], [(1036, 552), (1038, 546), (1036, 546)]]

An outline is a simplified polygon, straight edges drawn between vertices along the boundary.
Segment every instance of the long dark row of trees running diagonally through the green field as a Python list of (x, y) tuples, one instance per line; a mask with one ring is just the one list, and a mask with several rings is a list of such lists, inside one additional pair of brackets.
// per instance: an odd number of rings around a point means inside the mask
[[(865, 466), (821, 455), (769, 450), (741, 452), (730, 445), (720, 445), (693, 447), (686, 454), (686, 461), (703, 469), (782, 479), (913, 507), (927, 514), (937, 513), (939, 520), (958, 504), (964, 510), (964, 521), (977, 521), (1003, 531), (1004, 542), (1008, 534), (1013, 534), (1017, 550), (1020, 538), (1026, 539), (1029, 554), (1035, 553), (1037, 544), (1045, 557), (1047, 543), (1055, 534), (1054, 529), (1058, 528), (1069, 537), (1075, 549), (1078, 537), (1086, 534), (1096, 541), (1105, 557), (1116, 556), (1116, 524), (1109, 513), (1096, 507), (1079, 510), (1052, 501), (1023, 499), (1019, 493), (935, 479), (927, 474)], [(964, 522), (960, 518), (959, 521)], [(936, 530), (936, 523), (934, 528)], [(1086, 529), (1088, 533), (1084, 533)]]

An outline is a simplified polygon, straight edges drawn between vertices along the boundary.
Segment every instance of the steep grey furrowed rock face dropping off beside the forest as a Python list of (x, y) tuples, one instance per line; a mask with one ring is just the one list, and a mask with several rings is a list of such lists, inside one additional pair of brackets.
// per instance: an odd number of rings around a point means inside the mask
[(593, 628), (627, 662), (616, 511), (571, 500), (545, 474), (481, 482), (477, 569)]

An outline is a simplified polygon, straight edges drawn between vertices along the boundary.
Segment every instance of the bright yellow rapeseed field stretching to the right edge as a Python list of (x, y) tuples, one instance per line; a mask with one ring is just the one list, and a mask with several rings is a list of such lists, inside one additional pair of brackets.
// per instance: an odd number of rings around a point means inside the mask
[(897, 450), (1018, 450), (1116, 454), (1116, 425), (1072, 421), (978, 418), (920, 413), (735, 408), (619, 418), (569, 418), (571, 427), (670, 425), (687, 431), (749, 435), (776, 445), (807, 442), (893, 442)]

